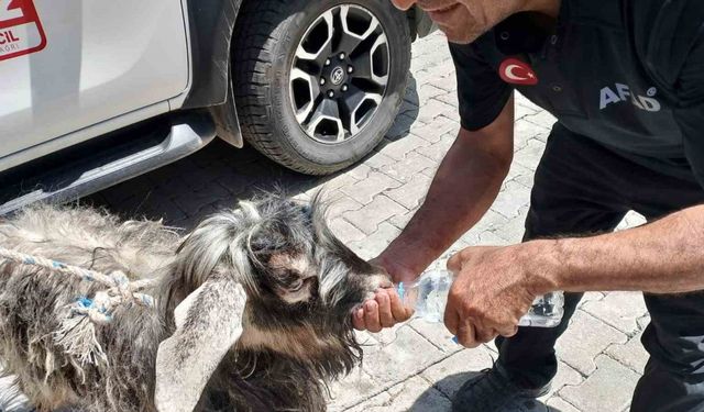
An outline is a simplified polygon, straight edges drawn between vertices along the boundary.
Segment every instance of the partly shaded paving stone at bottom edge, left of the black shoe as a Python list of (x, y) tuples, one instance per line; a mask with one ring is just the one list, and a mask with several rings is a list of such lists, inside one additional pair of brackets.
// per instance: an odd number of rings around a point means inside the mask
[(426, 380), (415, 377), (395, 385), (383, 394), (359, 404), (350, 412), (444, 412), (450, 411), (450, 400), (433, 389)]

